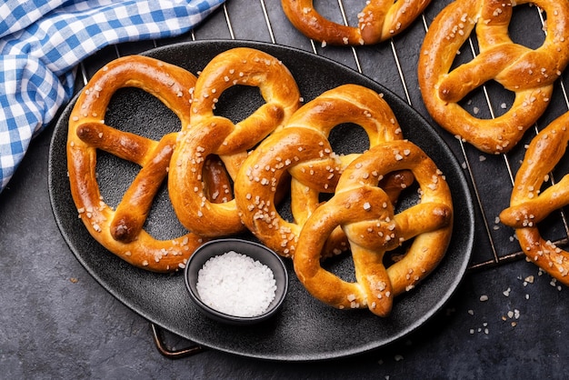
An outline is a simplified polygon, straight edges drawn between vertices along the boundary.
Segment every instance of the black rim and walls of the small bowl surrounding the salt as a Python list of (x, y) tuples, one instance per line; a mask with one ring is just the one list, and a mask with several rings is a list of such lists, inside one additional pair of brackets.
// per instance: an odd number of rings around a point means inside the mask
[[(201, 300), (196, 286), (199, 270), (210, 258), (224, 255), (230, 251), (247, 255), (255, 261), (268, 266), (273, 271), (276, 283), (275, 299), (273, 299), (263, 314), (255, 316), (228, 315), (215, 310), (209, 305), (205, 305)], [(204, 315), (225, 324), (253, 325), (265, 321), (277, 313), (279, 307), (283, 304), (284, 296), (288, 290), (288, 273), (281, 257), (265, 245), (244, 239), (217, 239), (201, 245), (190, 256), (185, 265), (185, 285), (195, 305)]]

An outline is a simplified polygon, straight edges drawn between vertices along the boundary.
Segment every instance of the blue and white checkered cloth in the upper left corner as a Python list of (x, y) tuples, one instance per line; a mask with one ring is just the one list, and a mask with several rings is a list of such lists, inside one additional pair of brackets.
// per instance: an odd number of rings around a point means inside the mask
[(32, 138), (106, 45), (191, 30), (225, 0), (4, 0), (0, 4), (0, 193)]

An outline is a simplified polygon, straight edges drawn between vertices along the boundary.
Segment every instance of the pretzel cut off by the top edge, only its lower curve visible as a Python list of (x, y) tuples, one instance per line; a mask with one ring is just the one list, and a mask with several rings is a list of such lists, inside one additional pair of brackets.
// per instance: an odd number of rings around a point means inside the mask
[(403, 32), (431, 0), (368, 1), (358, 26), (334, 23), (314, 9), (313, 0), (282, 0), (284, 15), (302, 34), (323, 45), (373, 45)]

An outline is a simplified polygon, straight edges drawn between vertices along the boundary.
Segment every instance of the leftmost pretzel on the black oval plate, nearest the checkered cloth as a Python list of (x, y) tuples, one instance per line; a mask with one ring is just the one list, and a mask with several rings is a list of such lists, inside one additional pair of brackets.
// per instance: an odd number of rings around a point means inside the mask
[[(67, 167), (71, 194), (79, 217), (96, 241), (126, 262), (155, 272), (171, 272), (185, 265), (203, 239), (192, 233), (157, 240), (144, 229), (155, 194), (167, 174), (176, 135), (160, 141), (105, 125), (112, 95), (123, 87), (138, 87), (155, 95), (189, 123), (190, 88), (195, 76), (154, 58), (132, 55), (118, 58), (100, 69), (78, 96), (69, 117)], [(113, 209), (101, 195), (95, 172), (97, 149), (141, 166), (121, 202)], [(228, 183), (212, 177), (209, 187)], [(214, 190), (216, 191), (216, 190)]]

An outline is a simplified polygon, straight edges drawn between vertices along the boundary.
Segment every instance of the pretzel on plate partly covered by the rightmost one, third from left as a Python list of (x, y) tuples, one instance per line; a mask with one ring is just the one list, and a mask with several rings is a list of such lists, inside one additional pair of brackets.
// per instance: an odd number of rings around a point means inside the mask
[[(402, 138), (391, 108), (380, 95), (360, 85), (341, 85), (297, 110), (282, 130), (249, 155), (237, 174), (235, 202), (243, 223), (279, 255), (294, 255), (304, 221), (320, 205), (319, 195), (334, 192), (344, 167), (357, 156), (335, 155), (327, 140), (332, 128), (343, 123), (361, 125), (371, 146)], [(294, 221), (284, 220), (275, 203), (276, 189), (288, 174)], [(344, 235), (338, 230), (324, 255), (343, 249)]]

